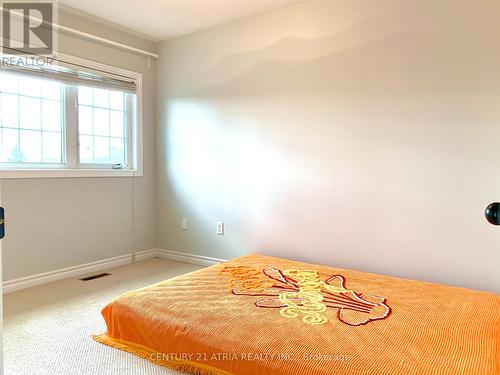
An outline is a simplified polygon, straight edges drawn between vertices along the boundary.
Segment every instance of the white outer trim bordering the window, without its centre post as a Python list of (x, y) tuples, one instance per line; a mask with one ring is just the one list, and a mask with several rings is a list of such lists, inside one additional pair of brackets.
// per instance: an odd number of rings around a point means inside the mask
[[(75, 178), (75, 177), (133, 177), (143, 176), (143, 144), (142, 144), (142, 73), (117, 68), (111, 65), (102, 64), (96, 61), (87, 60), (81, 57), (57, 54), (58, 58), (69, 63), (78, 64), (87, 68), (101, 70), (111, 74), (119, 74), (134, 80), (136, 84), (136, 107), (135, 121), (131, 121), (129, 136), (132, 138), (131, 149), (129, 147), (128, 156), (131, 168), (128, 169), (104, 169), (104, 168), (70, 168), (75, 165), (70, 160), (66, 164), (55, 165), (53, 168), (46, 168), (45, 165), (15, 165), (13, 167), (0, 166), (0, 179), (25, 179), (25, 178)], [(130, 116), (131, 114), (129, 114)], [(66, 147), (76, 145), (66, 144)], [(71, 154), (71, 153), (70, 153)]]

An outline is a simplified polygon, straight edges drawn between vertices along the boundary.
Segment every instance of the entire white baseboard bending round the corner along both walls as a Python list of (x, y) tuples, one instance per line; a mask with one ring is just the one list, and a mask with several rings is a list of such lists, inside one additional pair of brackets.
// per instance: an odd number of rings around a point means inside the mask
[(206, 257), (203, 255), (181, 253), (178, 251), (151, 249), (138, 251), (133, 254), (120, 255), (114, 258), (98, 260), (96, 262), (85, 263), (79, 266), (62, 268), (59, 270), (39, 273), (32, 276), (20, 277), (18, 279), (7, 280), (2, 283), (3, 293), (15, 292), (16, 290), (26, 289), (37, 285), (51, 283), (53, 281), (78, 277), (85, 274), (107, 270), (110, 268), (124, 266), (133, 262), (149, 258), (161, 258), (173, 260), (176, 262), (184, 262), (196, 264), (199, 266), (212, 266), (214, 264), (225, 262), (224, 259)]

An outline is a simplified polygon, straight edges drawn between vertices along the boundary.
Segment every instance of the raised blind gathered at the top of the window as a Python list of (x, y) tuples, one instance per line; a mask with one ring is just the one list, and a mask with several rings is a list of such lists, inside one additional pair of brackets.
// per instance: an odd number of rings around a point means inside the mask
[[(8, 57), (4, 55), (4, 57)], [(18, 63), (2, 64), (1, 71), (7, 71), (13, 74), (31, 75), (42, 79), (51, 79), (70, 85), (84, 85), (108, 90), (118, 90), (125, 92), (136, 92), (136, 84), (129, 77), (120, 76), (100, 70), (80, 66), (78, 64), (63, 61), (62, 59), (53, 60), (52, 64), (20, 64), (19, 56), (16, 56)]]

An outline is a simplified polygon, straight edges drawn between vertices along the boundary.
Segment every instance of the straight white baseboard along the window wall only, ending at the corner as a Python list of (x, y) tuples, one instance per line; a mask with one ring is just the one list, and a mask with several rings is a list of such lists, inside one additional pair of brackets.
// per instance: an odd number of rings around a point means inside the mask
[(57, 280), (77, 277), (88, 273), (103, 271), (109, 268), (123, 266), (132, 262), (154, 258), (156, 249), (138, 251), (133, 254), (120, 255), (114, 258), (98, 260), (96, 262), (85, 263), (79, 266), (62, 268), (55, 271), (39, 273), (32, 276), (20, 277), (18, 279), (7, 280), (2, 283), (3, 293), (10, 293), (16, 290), (30, 288), (32, 286), (47, 284)]

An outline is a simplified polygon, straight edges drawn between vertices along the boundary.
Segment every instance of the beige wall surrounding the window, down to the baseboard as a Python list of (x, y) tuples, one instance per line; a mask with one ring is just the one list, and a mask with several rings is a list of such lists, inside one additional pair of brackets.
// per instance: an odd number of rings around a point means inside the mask
[[(156, 48), (72, 13), (62, 12), (60, 23), (138, 48)], [(149, 68), (144, 57), (68, 35), (60, 35), (59, 50), (143, 74), (144, 177), (4, 180), (4, 280), (155, 247), (155, 62)]]

